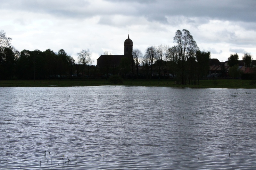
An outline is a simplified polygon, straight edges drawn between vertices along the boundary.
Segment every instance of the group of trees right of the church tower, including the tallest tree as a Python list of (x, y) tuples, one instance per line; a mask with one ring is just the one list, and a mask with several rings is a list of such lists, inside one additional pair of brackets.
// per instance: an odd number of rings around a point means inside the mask
[(173, 38), (176, 45), (151, 45), (143, 55), (139, 49), (133, 50), (136, 67), (136, 77), (139, 67), (142, 66), (147, 78), (152, 78), (153, 71), (160, 75), (171, 73), (175, 75), (177, 83), (198, 84), (199, 79), (206, 76), (209, 71), (210, 51), (200, 50), (193, 36), (186, 29), (177, 30)]

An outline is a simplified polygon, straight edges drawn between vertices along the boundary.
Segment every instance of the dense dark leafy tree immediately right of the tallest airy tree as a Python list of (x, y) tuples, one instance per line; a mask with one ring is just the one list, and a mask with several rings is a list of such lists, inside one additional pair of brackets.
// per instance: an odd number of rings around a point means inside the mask
[(211, 52), (196, 50), (195, 58), (197, 61), (197, 84), (199, 84), (199, 78), (206, 76), (207, 72), (209, 71)]

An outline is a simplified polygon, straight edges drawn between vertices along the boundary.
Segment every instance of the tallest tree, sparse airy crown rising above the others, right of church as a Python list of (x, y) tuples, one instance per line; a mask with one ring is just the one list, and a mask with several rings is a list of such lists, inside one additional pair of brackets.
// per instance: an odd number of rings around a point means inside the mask
[(181, 81), (182, 84), (186, 84), (186, 61), (190, 56), (194, 56), (193, 53), (198, 49), (193, 36), (186, 29), (182, 31), (177, 30), (173, 37), (174, 43), (177, 43), (178, 50), (178, 63), (181, 69)]

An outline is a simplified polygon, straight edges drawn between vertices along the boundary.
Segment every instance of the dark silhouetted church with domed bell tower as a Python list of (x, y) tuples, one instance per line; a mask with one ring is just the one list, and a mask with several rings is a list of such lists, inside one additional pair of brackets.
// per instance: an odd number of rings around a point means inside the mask
[(111, 71), (111, 68), (114, 71), (114, 68), (119, 66), (123, 57), (132, 58), (132, 46), (132, 40), (128, 35), (128, 39), (124, 41), (124, 55), (101, 55), (97, 59), (97, 68), (100, 70), (107, 69), (108, 73)]

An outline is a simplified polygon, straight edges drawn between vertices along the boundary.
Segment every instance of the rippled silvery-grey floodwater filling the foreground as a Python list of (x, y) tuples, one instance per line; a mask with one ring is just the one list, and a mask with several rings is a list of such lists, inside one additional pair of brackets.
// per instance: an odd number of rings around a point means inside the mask
[(0, 88), (0, 169), (256, 169), (256, 89)]

